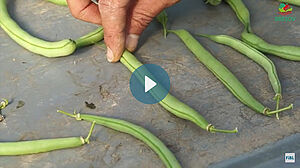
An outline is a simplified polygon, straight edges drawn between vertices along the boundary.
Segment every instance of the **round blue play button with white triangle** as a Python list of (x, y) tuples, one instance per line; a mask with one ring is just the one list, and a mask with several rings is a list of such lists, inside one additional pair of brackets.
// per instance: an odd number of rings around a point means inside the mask
[(130, 91), (140, 102), (155, 104), (164, 99), (170, 90), (167, 72), (155, 64), (137, 68), (130, 78)]

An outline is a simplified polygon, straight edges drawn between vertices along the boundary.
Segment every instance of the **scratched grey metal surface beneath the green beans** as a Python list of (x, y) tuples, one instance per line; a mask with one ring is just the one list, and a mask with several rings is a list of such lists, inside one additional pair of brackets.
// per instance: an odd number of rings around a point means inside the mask
[[(300, 8), (296, 22), (275, 22), (276, 1), (245, 2), (253, 30), (275, 44), (300, 44)], [(9, 13), (29, 33), (46, 39), (77, 38), (96, 26), (74, 19), (66, 7), (42, 0), (8, 1)], [(201, 0), (186, 0), (168, 9), (169, 28), (192, 33), (228, 34), (239, 37), (242, 24), (230, 7), (206, 6)], [(198, 38), (223, 62), (263, 104), (274, 107), (266, 73), (234, 50)], [(179, 119), (159, 105), (145, 105), (131, 95), (130, 72), (121, 63), (106, 62), (105, 51), (90, 46), (72, 56), (47, 59), (32, 54), (0, 30), (0, 97), (13, 102), (2, 111), (0, 141), (33, 140), (87, 135), (90, 123), (77, 122), (56, 109), (104, 115), (139, 124), (158, 136), (185, 168), (207, 167), (264, 145), (272, 144), (300, 128), (300, 63), (274, 56), (283, 87), (282, 106), (293, 103), (280, 120), (256, 114), (241, 104), (174, 35), (167, 40), (153, 22), (143, 34), (135, 55), (143, 63), (162, 66), (170, 76), (171, 93), (195, 108), (216, 127), (239, 128), (238, 134), (211, 134)], [(23, 101), (25, 104), (22, 106)], [(89, 109), (85, 101), (94, 103)], [(22, 106), (22, 107), (20, 107)], [(0, 168), (102, 167), (160, 168), (157, 155), (139, 140), (101, 126), (92, 142), (76, 149), (29, 156), (0, 157)]]

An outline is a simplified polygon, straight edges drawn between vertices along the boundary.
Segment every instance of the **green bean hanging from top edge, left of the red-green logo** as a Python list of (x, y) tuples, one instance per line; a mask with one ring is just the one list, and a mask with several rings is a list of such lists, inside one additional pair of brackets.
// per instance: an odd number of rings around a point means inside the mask
[(248, 32), (252, 32), (250, 26), (250, 13), (242, 0), (225, 0), (235, 12), (238, 19), (243, 23)]

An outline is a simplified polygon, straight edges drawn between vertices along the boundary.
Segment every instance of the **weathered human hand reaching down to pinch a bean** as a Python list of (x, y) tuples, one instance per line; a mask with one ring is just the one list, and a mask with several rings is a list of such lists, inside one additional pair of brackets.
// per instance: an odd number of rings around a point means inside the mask
[(107, 60), (120, 60), (124, 48), (134, 51), (140, 34), (163, 9), (179, 0), (67, 0), (72, 15), (102, 25)]

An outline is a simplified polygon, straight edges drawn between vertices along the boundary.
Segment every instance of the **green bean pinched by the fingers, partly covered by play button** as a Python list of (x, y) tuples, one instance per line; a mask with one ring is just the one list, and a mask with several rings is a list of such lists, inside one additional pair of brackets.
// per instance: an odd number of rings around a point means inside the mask
[[(134, 55), (128, 51), (124, 51), (121, 59), (121, 63), (125, 65), (131, 72), (136, 70), (138, 67), (143, 64), (139, 62)], [(237, 128), (234, 130), (221, 130), (216, 129), (212, 124), (209, 124), (196, 110), (192, 109), (188, 105), (179, 101), (177, 98), (172, 96), (170, 93), (159, 102), (167, 111), (171, 112), (179, 118), (183, 118), (189, 121), (192, 121), (202, 129), (205, 129), (209, 132), (223, 132), (223, 133), (236, 133)]]

